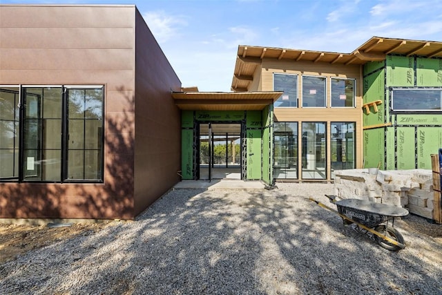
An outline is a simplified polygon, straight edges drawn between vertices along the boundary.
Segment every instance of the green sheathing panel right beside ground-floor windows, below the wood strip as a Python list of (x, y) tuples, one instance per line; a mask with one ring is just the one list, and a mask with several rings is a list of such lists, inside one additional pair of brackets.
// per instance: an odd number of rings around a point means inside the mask
[(384, 129), (364, 130), (364, 167), (376, 168), (381, 163), (380, 169), (384, 169)]

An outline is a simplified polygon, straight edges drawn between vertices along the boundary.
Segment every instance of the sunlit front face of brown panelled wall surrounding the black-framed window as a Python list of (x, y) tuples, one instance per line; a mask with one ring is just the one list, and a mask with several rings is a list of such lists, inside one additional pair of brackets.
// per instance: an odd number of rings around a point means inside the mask
[(0, 183), (0, 217), (135, 216), (135, 6), (0, 6), (0, 84), (106, 90), (104, 184)]

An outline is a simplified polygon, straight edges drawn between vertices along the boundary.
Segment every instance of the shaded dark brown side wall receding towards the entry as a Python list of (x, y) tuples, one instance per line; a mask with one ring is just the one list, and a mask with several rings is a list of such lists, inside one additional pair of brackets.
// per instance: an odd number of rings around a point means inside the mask
[(179, 181), (180, 110), (171, 91), (181, 82), (135, 13), (135, 215)]

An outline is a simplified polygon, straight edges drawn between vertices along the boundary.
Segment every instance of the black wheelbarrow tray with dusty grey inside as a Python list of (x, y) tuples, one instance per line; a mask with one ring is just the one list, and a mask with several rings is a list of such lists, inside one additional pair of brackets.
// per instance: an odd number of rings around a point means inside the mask
[[(407, 209), (391, 204), (370, 202), (369, 200), (344, 199), (334, 203), (336, 207), (338, 207), (340, 214), (370, 228), (376, 227), (392, 218), (406, 216), (408, 214)], [(345, 221), (351, 223), (349, 220)]]

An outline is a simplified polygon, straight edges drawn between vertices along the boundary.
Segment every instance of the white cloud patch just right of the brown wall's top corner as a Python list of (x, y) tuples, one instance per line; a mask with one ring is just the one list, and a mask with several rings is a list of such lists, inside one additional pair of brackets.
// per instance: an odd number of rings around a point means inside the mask
[(160, 43), (169, 41), (177, 36), (180, 28), (187, 25), (185, 17), (167, 15), (164, 11), (146, 12), (143, 18), (155, 39)]

